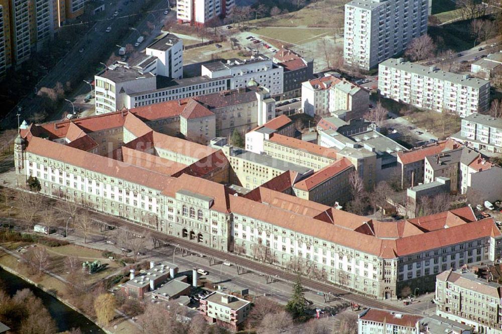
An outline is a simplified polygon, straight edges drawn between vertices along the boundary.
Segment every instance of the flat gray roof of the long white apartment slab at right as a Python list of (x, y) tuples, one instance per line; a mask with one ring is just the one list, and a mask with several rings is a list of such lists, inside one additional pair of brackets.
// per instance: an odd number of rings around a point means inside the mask
[(392, 67), (398, 70), (415, 73), (418, 75), (422, 75), (424, 77), (435, 78), (440, 80), (445, 80), (454, 84), (463, 85), (472, 88), (481, 88), (486, 84), (489, 84), (489, 81), (478, 79), (478, 78), (467, 78), (464, 75), (445, 72), (442, 70), (432, 70), (427, 66), (418, 65), (416, 63), (405, 62), (403, 58), (398, 59), (388, 59), (382, 63), (380, 63), (379, 68), (382, 66)]

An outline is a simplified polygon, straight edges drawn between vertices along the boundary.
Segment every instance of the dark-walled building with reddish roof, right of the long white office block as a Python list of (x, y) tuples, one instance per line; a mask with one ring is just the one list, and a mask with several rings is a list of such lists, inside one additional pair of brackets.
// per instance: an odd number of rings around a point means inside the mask
[(274, 55), (273, 61), (284, 68), (284, 93), (281, 99), (301, 96), (302, 83), (314, 76), (314, 60), (304, 59), (292, 50), (281, 48)]

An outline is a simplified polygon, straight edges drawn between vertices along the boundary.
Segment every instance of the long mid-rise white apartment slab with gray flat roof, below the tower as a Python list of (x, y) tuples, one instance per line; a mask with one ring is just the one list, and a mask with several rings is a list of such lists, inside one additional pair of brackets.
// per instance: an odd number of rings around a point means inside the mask
[(379, 65), (378, 88), (383, 97), (460, 117), (485, 112), (489, 107), (489, 81), (405, 62), (403, 58)]

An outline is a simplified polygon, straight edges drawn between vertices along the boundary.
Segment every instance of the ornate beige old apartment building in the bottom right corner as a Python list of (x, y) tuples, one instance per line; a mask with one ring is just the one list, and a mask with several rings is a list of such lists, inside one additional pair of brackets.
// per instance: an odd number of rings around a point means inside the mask
[(467, 269), (450, 269), (436, 277), (436, 314), (471, 325), (478, 333), (502, 332), (501, 297), (500, 284)]

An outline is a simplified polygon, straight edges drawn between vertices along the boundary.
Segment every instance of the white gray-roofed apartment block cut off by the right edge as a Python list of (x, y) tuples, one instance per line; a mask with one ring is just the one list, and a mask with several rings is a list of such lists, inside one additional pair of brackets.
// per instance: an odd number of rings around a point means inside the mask
[(462, 120), (460, 132), (451, 137), (476, 150), (502, 153), (502, 119), (472, 114)]

